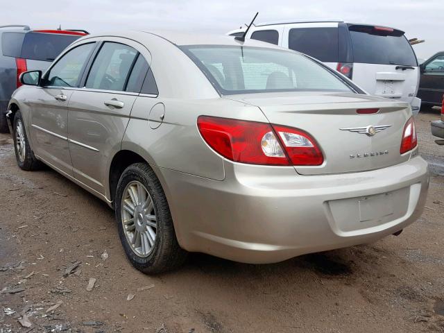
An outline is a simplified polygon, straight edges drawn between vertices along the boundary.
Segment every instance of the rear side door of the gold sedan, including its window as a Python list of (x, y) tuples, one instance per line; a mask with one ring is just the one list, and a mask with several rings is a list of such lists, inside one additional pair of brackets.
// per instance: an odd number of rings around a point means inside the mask
[[(84, 85), (69, 101), (68, 137), (74, 177), (105, 194), (108, 161), (120, 150), (151, 56), (130, 40), (101, 43)], [(146, 59), (148, 58), (148, 59)], [(132, 74), (133, 75), (130, 75)]]

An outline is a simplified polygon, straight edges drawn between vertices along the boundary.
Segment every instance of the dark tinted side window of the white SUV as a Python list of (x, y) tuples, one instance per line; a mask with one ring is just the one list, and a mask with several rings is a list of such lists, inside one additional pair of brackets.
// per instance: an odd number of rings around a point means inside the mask
[(292, 28), (289, 49), (322, 62), (338, 62), (338, 28)]

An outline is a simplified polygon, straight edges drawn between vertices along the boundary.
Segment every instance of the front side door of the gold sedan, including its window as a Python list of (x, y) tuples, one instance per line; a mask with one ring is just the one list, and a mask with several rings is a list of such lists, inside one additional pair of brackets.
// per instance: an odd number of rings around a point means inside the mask
[(70, 49), (46, 72), (42, 87), (30, 94), (33, 150), (52, 167), (72, 176), (68, 137), (68, 101), (83, 74), (95, 43)]

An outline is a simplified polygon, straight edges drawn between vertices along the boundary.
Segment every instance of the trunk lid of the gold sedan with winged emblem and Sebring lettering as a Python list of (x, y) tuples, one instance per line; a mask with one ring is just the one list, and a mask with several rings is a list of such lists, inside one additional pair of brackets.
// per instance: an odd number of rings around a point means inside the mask
[[(300, 174), (368, 171), (409, 160), (409, 153), (400, 154), (404, 125), (411, 117), (407, 103), (331, 92), (239, 94), (225, 98), (255, 105), (271, 123), (305, 130), (316, 139), (324, 162), (317, 167), (295, 167)], [(357, 113), (368, 108), (379, 111)], [(377, 133), (366, 134), (369, 126)]]

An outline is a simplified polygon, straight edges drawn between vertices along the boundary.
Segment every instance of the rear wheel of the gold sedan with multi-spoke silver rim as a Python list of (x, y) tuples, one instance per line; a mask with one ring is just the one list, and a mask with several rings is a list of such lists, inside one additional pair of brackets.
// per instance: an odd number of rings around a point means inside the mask
[(167, 198), (148, 164), (132, 164), (123, 171), (115, 212), (123, 250), (139, 271), (163, 273), (185, 262), (187, 251), (178, 244)]

